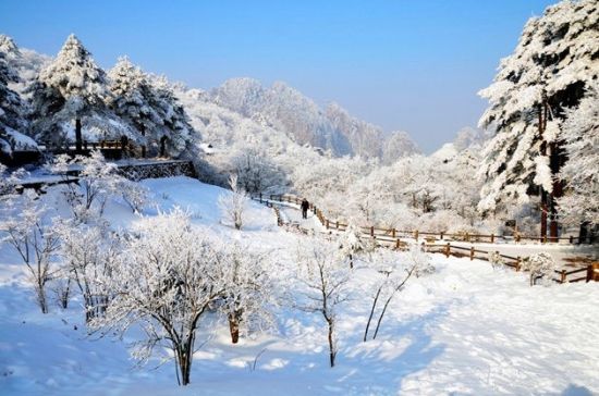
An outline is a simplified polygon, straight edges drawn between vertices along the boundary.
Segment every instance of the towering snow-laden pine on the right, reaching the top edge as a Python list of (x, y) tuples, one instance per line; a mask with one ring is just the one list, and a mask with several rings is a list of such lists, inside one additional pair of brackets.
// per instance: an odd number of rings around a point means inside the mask
[(489, 108), (480, 119), (496, 135), (487, 146), (479, 210), (500, 212), (540, 196), (541, 235), (557, 236), (555, 198), (565, 161), (560, 125), (585, 86), (599, 76), (599, 4), (562, 1), (528, 21), (514, 53), (501, 61), (494, 83), (481, 90)]

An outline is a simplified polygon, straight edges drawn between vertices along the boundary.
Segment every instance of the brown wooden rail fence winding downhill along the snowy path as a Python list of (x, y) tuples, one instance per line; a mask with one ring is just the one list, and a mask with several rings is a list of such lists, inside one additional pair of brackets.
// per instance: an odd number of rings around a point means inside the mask
[[(268, 207), (271, 207), (274, 209), (274, 212), (277, 214), (277, 223), (279, 225), (284, 225), (283, 221), (281, 219), (281, 214), (279, 211), (279, 208), (273, 202), (282, 202), (282, 203), (294, 203), (294, 205), (301, 205), (302, 198), (291, 196), (291, 195), (268, 195), (262, 196), (261, 194), (252, 196), (253, 199), (266, 203)], [(347, 228), (347, 224), (340, 223), (339, 221), (331, 221), (327, 219), (322, 211), (315, 206), (310, 205), (310, 211), (317, 216), (320, 224), (325, 226), (326, 230), (329, 232), (332, 231), (345, 231)], [(496, 257), (501, 258), (504, 265), (514, 269), (516, 272), (522, 270), (522, 263), (523, 259), (518, 257), (508, 256), (508, 255), (501, 255), (499, 251), (489, 251), (489, 250), (481, 250), (477, 249), (474, 246), (472, 247), (464, 247), (464, 246), (455, 246), (451, 245), (451, 243), (445, 244), (439, 244), (437, 239), (437, 235), (440, 236), (441, 239), (443, 237), (450, 236), (452, 234), (443, 234), (443, 233), (427, 233), (427, 232), (418, 232), (418, 231), (398, 231), (395, 228), (381, 228), (381, 227), (375, 227), (375, 226), (363, 226), (360, 227), (362, 231), (362, 238), (367, 239), (375, 239), (376, 243), (381, 247), (387, 247), (395, 250), (405, 250), (408, 247), (408, 244), (405, 240), (402, 240), (402, 237), (405, 239), (406, 237), (418, 239), (419, 237), (424, 236), (425, 242), (421, 243), (423, 248), (426, 251), (435, 252), (435, 253), (442, 253), (445, 255), (445, 257), (454, 256), (454, 257), (468, 257), (470, 260), (478, 259), (478, 260), (485, 260), (490, 261), (490, 256), (496, 255)], [(453, 234), (455, 235), (455, 234)], [(466, 234), (467, 236), (467, 234)], [(494, 235), (469, 235), (465, 239), (461, 239), (464, 242), (477, 242), (475, 237), (488, 237), (490, 243), (494, 243), (498, 237)], [(562, 238), (567, 239), (569, 243), (573, 243), (571, 238)], [(516, 242), (519, 242), (521, 239), (516, 239)], [(537, 240), (537, 239), (535, 239)], [(557, 283), (573, 283), (573, 282), (589, 282), (589, 281), (597, 281), (599, 282), (599, 262), (594, 262), (588, 264), (584, 268), (576, 268), (572, 270), (560, 270), (554, 271), (554, 276), (552, 277), (553, 282)]]

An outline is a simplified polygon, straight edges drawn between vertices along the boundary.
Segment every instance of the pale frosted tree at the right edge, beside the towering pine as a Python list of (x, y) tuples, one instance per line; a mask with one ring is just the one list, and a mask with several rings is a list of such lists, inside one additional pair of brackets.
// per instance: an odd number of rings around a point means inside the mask
[(567, 181), (560, 211), (567, 223), (599, 224), (599, 83), (587, 88), (580, 104), (567, 112), (561, 138), (569, 161), (561, 177)]

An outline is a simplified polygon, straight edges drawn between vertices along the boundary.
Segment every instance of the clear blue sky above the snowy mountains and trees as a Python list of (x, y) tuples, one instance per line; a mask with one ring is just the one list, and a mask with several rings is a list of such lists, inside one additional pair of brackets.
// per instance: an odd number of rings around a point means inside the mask
[(555, 0), (0, 0), (0, 33), (54, 55), (75, 33), (103, 67), (209, 89), (283, 81), (427, 152), (476, 126), (499, 60)]

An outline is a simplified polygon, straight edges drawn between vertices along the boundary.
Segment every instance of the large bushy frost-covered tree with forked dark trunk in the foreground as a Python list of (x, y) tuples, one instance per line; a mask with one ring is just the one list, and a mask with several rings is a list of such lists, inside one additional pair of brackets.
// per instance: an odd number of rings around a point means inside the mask
[(112, 298), (91, 327), (125, 333), (139, 326), (145, 338), (133, 356), (147, 360), (166, 348), (179, 383), (190, 384), (200, 320), (225, 290), (215, 246), (180, 209), (135, 222), (123, 237), (122, 261), (110, 273)]

